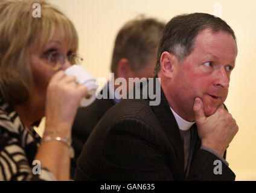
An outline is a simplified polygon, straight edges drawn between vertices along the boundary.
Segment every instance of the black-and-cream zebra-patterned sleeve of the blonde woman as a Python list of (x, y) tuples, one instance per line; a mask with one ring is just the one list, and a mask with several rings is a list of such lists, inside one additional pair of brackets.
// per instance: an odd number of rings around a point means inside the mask
[[(13, 123), (8, 120), (4, 121), (5, 126), (0, 126), (0, 180), (4, 181), (28, 181), (28, 180), (56, 180), (53, 174), (43, 166), (34, 163), (28, 163), (27, 155), (24, 148), (19, 142), (19, 133), (11, 132)], [(8, 128), (6, 128), (8, 125)]]

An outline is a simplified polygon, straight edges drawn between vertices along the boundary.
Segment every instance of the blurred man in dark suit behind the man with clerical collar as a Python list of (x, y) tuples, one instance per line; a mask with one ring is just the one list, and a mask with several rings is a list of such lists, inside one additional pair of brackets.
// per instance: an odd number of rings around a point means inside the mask
[[(115, 79), (122, 77), (128, 83), (129, 78), (154, 76), (153, 71), (164, 25), (163, 22), (156, 19), (141, 17), (127, 22), (121, 28), (115, 40), (111, 63), (111, 71), (114, 73)], [(115, 87), (118, 86), (115, 85)], [(126, 92), (129, 90), (128, 86), (127, 84)], [(109, 88), (109, 84), (106, 87), (109, 91), (108, 95), (114, 96), (115, 88)], [(122, 95), (126, 95), (126, 93), (122, 93)], [(78, 109), (72, 128), (75, 158), (71, 160), (71, 177), (75, 171), (77, 157), (92, 129), (104, 113), (119, 101), (115, 97), (114, 100), (95, 100), (91, 106)]]

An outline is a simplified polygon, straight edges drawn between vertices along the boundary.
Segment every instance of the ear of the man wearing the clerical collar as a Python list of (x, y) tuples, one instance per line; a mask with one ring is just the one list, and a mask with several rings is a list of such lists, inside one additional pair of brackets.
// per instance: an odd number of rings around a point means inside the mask
[(171, 78), (174, 70), (174, 62), (176, 62), (176, 56), (165, 51), (162, 52), (160, 63), (162, 74), (166, 78)]

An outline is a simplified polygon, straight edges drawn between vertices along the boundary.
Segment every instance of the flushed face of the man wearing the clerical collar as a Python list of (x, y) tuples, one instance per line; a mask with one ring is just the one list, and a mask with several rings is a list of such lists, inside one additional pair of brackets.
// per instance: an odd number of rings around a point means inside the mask
[(231, 71), (235, 66), (237, 47), (231, 34), (201, 31), (194, 49), (174, 66), (174, 109), (189, 119), (194, 118), (194, 98), (203, 101), (206, 116), (213, 115), (228, 95)]

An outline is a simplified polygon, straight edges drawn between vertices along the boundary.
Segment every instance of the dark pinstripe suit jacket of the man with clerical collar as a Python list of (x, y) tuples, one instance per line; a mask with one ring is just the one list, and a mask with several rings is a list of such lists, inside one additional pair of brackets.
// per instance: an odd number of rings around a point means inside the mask
[[(196, 127), (194, 125), (194, 127)], [(178, 124), (161, 90), (159, 106), (122, 100), (96, 125), (77, 161), (75, 180), (234, 180), (218, 157), (200, 150), (196, 139), (190, 174), (184, 179), (184, 147)]]

